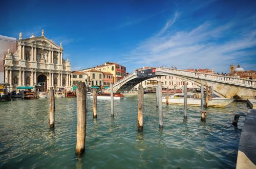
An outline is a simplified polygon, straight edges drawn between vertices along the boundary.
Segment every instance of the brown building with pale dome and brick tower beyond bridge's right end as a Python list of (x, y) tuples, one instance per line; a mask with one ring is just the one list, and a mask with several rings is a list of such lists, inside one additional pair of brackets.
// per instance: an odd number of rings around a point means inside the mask
[(256, 79), (256, 71), (255, 70), (244, 70), (240, 64), (238, 64), (237, 68), (235, 65), (230, 65), (229, 74), (227, 76), (231, 76), (234, 78), (245, 78), (245, 79)]

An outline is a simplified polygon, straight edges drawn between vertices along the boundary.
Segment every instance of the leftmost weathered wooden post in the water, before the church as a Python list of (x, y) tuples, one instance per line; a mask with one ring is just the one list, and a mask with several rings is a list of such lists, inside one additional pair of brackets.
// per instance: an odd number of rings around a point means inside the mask
[(53, 87), (49, 91), (49, 126), (54, 128), (54, 115), (55, 115), (55, 95)]

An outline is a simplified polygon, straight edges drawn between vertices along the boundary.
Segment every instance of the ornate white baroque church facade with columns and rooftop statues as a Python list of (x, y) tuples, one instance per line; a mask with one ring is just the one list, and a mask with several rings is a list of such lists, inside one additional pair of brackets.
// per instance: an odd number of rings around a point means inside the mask
[(69, 59), (62, 58), (63, 48), (45, 37), (32, 35), (23, 39), (19, 33), (17, 51), (8, 50), (5, 56), (5, 83), (9, 91), (40, 87), (42, 91), (54, 87), (55, 90), (71, 89), (71, 65)]

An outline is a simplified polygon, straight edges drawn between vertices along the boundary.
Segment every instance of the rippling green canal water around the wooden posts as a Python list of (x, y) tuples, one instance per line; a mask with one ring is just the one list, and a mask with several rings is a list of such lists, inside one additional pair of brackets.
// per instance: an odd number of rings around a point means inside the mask
[(48, 100), (0, 103), (0, 168), (235, 168), (239, 138), (231, 122), (247, 112), (245, 103), (208, 108), (201, 122), (200, 107), (163, 105), (164, 128), (159, 131), (155, 94), (144, 95), (143, 132), (137, 132), (137, 96), (98, 101), (93, 119), (87, 113), (86, 154), (75, 155), (76, 98), (56, 99), (55, 129), (49, 129)]

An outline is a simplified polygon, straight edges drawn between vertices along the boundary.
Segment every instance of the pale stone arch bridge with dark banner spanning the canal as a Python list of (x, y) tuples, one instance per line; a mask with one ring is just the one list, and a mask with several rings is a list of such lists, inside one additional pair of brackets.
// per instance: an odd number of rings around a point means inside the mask
[[(253, 98), (256, 95), (256, 81), (221, 75), (212, 75), (175, 68), (155, 67), (134, 71), (113, 85), (114, 93), (129, 91), (138, 83), (156, 76), (177, 76), (185, 81), (212, 86), (215, 94), (222, 98), (239, 96), (241, 99)], [(103, 92), (110, 92), (110, 88)]]

